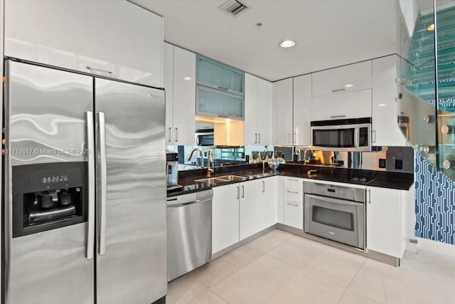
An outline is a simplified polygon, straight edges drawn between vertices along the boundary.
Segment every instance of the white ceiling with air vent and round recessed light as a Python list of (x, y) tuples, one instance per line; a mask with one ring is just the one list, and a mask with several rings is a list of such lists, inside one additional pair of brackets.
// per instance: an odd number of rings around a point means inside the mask
[(237, 18), (225, 0), (130, 1), (164, 17), (165, 41), (271, 81), (397, 50), (394, 0), (245, 0)]

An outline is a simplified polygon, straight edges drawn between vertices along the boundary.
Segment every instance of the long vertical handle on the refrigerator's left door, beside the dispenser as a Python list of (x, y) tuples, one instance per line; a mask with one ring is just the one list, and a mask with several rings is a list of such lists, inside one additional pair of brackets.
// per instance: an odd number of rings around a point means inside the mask
[(87, 260), (92, 260), (95, 246), (95, 139), (93, 112), (85, 113), (87, 120), (87, 149), (88, 149), (88, 227), (87, 227)]

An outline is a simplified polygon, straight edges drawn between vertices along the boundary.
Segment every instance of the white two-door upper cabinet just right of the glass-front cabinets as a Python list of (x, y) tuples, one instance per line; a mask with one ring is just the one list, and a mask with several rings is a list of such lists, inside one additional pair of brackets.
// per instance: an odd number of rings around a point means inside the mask
[(272, 83), (245, 73), (245, 145), (272, 143)]

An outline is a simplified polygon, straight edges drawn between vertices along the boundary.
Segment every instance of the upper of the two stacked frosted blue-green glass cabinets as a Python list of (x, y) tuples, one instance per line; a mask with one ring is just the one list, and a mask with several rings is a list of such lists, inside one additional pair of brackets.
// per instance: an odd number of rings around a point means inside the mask
[(196, 83), (242, 96), (245, 88), (242, 70), (200, 55), (196, 57)]

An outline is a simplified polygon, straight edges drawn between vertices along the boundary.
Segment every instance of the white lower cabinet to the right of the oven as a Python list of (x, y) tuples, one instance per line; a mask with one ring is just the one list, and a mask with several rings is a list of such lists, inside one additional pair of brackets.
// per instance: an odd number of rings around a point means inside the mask
[(407, 243), (408, 191), (367, 187), (367, 248), (402, 258)]

